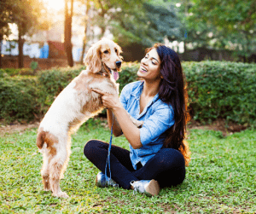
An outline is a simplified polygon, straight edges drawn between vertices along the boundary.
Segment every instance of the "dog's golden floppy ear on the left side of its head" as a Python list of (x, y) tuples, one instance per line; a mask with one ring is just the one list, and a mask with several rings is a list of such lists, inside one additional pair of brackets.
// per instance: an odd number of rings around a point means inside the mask
[(90, 47), (87, 54), (84, 57), (84, 64), (88, 67), (90, 72), (100, 72), (102, 70), (102, 59), (101, 59), (101, 46), (94, 44)]

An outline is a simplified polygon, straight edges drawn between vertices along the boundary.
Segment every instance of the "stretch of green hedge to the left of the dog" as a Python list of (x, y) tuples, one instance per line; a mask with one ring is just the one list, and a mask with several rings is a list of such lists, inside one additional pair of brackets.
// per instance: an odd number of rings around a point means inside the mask
[[(0, 119), (31, 120), (40, 118), (48, 110), (61, 90), (79, 75), (84, 67), (54, 68), (40, 72), (38, 77), (20, 76), (11, 69), (0, 70)], [(7, 71), (7, 72), (6, 72)], [(21, 69), (22, 71), (22, 69)], [(11, 73), (10, 77), (7, 73)], [(18, 73), (14, 76), (14, 73)]]

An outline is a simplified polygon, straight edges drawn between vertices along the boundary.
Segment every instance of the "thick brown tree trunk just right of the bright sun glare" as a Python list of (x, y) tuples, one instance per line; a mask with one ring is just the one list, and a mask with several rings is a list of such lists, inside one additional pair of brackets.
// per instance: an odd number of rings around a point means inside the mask
[(64, 30), (64, 47), (67, 54), (67, 63), (69, 67), (73, 67), (73, 55), (71, 43), (72, 38), (72, 17), (73, 17), (73, 0), (71, 0), (71, 9), (69, 11), (68, 0), (65, 1), (65, 30)]

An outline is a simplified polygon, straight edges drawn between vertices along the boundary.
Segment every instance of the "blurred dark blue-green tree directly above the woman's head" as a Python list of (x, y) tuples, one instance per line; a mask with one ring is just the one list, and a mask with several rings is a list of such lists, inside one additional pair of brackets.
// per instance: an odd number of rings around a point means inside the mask
[[(148, 1), (129, 9), (129, 15), (119, 14), (119, 25), (113, 28), (113, 35), (125, 48), (133, 50), (132, 60), (140, 60), (144, 49), (154, 43), (164, 43), (182, 38), (180, 21), (172, 3)], [(140, 55), (138, 53), (140, 52)]]

